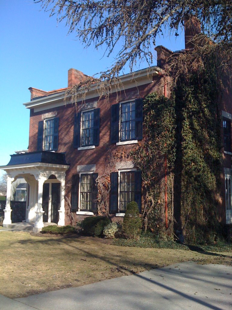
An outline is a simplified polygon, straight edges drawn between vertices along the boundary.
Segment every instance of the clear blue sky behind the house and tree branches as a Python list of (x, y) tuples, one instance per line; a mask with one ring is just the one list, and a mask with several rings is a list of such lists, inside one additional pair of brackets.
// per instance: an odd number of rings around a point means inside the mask
[[(111, 66), (116, 55), (102, 58), (103, 50), (84, 49), (75, 34), (67, 36), (64, 24), (57, 24), (56, 17), (49, 17), (33, 0), (0, 0), (0, 29), (0, 166), (3, 166), (9, 162), (10, 154), (28, 147), (30, 113), (23, 103), (30, 100), (29, 87), (45, 91), (67, 87), (68, 69), (93, 75)], [(167, 33), (165, 38), (158, 38), (157, 45), (170, 50), (183, 49), (183, 31), (177, 39)], [(145, 67), (146, 64), (141, 65)]]

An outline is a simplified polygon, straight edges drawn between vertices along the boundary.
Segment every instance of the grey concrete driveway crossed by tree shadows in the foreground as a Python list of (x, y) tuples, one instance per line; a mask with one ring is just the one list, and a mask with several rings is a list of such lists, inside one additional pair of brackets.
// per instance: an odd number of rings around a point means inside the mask
[(80, 287), (8, 299), (1, 310), (231, 310), (232, 267), (180, 263)]

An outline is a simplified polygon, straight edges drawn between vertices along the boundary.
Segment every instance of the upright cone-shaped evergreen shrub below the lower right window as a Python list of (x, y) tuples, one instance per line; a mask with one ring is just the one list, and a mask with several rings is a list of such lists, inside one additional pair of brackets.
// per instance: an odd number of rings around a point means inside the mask
[(139, 208), (135, 201), (127, 205), (127, 210), (123, 219), (122, 231), (126, 238), (136, 238), (141, 233), (142, 222), (139, 217)]

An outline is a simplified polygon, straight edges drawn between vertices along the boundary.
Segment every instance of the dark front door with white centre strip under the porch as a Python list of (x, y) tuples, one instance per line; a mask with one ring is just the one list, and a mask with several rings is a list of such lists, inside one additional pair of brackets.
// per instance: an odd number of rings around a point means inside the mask
[(57, 224), (60, 208), (60, 183), (44, 184), (42, 206), (44, 210), (43, 221)]

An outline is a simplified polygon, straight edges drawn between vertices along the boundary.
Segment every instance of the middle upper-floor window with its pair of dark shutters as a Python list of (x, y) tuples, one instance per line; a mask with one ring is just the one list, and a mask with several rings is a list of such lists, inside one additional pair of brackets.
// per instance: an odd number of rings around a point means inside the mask
[(99, 145), (100, 108), (75, 114), (73, 146), (75, 148)]

